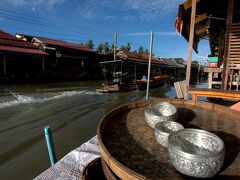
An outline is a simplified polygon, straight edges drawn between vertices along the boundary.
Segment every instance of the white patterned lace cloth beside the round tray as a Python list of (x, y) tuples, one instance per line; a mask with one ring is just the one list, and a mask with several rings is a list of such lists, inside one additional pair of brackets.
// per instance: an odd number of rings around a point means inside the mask
[(81, 179), (83, 168), (100, 157), (97, 136), (68, 153), (54, 166), (48, 168), (34, 180)]

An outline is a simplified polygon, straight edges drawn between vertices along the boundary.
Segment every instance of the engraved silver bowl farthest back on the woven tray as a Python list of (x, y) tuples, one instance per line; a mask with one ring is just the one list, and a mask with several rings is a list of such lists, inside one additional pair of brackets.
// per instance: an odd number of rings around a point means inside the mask
[(177, 108), (167, 102), (151, 104), (145, 107), (144, 115), (147, 124), (154, 129), (158, 122), (175, 121), (177, 119)]

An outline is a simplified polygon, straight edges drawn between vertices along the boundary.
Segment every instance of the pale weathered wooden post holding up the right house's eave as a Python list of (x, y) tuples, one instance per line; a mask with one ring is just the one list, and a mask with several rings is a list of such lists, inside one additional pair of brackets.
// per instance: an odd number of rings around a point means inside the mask
[(191, 13), (189, 44), (188, 44), (188, 63), (187, 63), (187, 72), (186, 72), (186, 87), (187, 87), (187, 89), (188, 89), (189, 84), (190, 84), (190, 75), (191, 75), (195, 15), (196, 15), (196, 0), (192, 0), (192, 13)]

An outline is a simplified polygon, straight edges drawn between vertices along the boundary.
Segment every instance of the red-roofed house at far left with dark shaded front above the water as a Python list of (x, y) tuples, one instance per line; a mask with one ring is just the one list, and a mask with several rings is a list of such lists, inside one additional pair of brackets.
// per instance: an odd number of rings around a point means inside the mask
[(48, 53), (0, 30), (0, 83), (41, 78)]

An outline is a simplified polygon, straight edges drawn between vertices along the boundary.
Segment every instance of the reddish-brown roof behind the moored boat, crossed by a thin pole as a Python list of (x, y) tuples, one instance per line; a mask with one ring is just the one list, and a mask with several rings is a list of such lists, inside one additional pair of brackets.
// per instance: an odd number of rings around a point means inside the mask
[[(138, 62), (148, 62), (148, 60), (149, 60), (149, 55), (139, 54), (139, 53), (134, 53), (134, 52), (129, 52), (129, 51), (119, 51), (117, 53), (117, 55), (120, 58), (132, 60), (132, 61), (138, 61)], [(153, 56), (152, 56), (152, 63), (165, 64), (165, 62), (163, 60), (158, 60), (157, 58), (155, 58)]]

